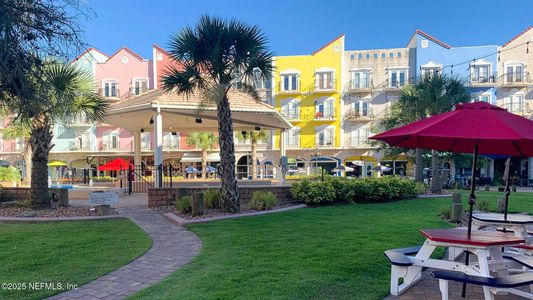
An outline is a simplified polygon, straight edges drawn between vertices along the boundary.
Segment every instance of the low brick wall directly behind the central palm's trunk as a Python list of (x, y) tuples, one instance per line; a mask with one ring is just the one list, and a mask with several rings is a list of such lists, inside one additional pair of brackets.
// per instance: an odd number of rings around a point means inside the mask
[[(151, 188), (148, 189), (148, 206), (164, 206), (174, 205), (176, 203), (176, 197), (184, 195), (191, 195), (193, 193), (201, 193), (206, 189), (212, 189), (213, 187), (201, 187), (201, 186), (189, 186), (179, 188)], [(290, 194), (290, 185), (259, 185), (259, 186), (239, 186), (239, 193), (241, 195), (241, 205), (248, 203), (252, 198), (252, 194), (255, 191), (267, 191), (274, 193), (280, 203), (292, 202)]]

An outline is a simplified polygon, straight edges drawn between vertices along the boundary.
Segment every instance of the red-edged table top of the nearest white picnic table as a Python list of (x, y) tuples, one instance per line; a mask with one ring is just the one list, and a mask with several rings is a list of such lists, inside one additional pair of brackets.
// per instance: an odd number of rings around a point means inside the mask
[(420, 229), (420, 232), (434, 242), (465, 246), (512, 246), (522, 244), (525, 241), (523, 238), (516, 237), (513, 234), (498, 231), (472, 230), (469, 236), (464, 228)]

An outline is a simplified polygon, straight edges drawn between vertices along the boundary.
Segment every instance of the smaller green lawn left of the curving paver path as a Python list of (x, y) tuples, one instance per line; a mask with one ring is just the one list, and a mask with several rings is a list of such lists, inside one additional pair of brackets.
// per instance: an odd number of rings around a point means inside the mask
[[(142, 255), (151, 243), (127, 219), (0, 223), (0, 283), (81, 285)], [(0, 289), (0, 299), (41, 299), (56, 293)]]

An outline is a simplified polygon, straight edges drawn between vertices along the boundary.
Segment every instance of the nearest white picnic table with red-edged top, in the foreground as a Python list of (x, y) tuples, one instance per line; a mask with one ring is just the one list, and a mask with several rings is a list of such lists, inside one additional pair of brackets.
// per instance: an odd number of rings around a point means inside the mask
[[(524, 238), (511, 233), (498, 231), (473, 230), (470, 235), (463, 228), (421, 229), (426, 237), (423, 246), (414, 256), (403, 256), (403, 260), (391, 260), (391, 294), (398, 295), (412, 286), (422, 276), (422, 268), (458, 271), (466, 275), (491, 277), (490, 272), (508, 275), (509, 265), (502, 256), (501, 247), (517, 246), (524, 243)], [(458, 247), (477, 256), (477, 263), (466, 265), (461, 262), (431, 258), (437, 247)], [(403, 283), (399, 284), (399, 279)], [(441, 290), (442, 290), (441, 286)], [(446, 286), (447, 290), (447, 286)], [(483, 287), (486, 299), (491, 299), (490, 288)]]

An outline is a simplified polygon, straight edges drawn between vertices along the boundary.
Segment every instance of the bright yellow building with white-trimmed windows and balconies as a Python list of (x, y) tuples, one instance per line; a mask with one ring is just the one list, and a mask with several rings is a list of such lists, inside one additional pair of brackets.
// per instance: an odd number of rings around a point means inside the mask
[[(300, 173), (340, 163), (343, 53), (341, 35), (312, 54), (274, 57), (273, 104), (294, 125), (285, 133), (285, 145)], [(274, 134), (274, 145), (280, 136)]]

